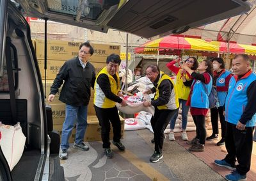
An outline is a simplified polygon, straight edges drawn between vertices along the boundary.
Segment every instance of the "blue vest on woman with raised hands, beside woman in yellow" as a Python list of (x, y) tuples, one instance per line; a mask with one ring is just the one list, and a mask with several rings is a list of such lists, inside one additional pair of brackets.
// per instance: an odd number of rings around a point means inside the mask
[(193, 92), (191, 95), (191, 104), (190, 107), (196, 107), (196, 108), (204, 108), (209, 109), (209, 98), (208, 96), (211, 93), (212, 90), (212, 76), (211, 81), (208, 84), (205, 84), (207, 93), (205, 92), (204, 86), (201, 81), (194, 79), (193, 83)]

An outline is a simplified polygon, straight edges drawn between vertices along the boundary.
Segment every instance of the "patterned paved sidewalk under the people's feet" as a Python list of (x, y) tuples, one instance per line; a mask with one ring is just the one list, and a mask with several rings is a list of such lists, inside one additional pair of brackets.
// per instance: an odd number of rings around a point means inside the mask
[[(189, 138), (195, 132), (188, 132)], [(154, 152), (153, 138), (150, 130), (126, 131), (122, 142), (126, 146), (125, 152), (120, 152), (111, 145), (115, 153), (113, 159), (107, 159), (103, 153), (100, 141), (89, 142), (90, 150), (83, 152), (70, 146), (68, 159), (61, 160), (65, 171), (65, 180), (134, 180), (134, 181), (162, 181), (188, 180), (212, 181), (225, 180), (223, 175), (230, 173), (228, 169), (212, 164), (214, 159), (221, 159), (226, 154), (225, 147), (215, 146), (207, 141), (205, 152), (191, 153), (185, 141), (180, 139), (180, 133), (175, 134), (177, 141), (164, 139), (163, 159), (157, 163), (149, 162)], [(254, 145), (255, 146), (255, 145)], [(255, 148), (253, 150), (252, 170), (248, 173), (248, 180), (256, 180)]]

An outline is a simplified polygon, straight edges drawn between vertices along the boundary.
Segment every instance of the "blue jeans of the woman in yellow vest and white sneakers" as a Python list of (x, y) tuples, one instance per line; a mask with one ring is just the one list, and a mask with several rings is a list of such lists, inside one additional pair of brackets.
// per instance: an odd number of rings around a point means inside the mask
[[(186, 106), (187, 100), (183, 100), (179, 98), (179, 104), (182, 106), (182, 130), (186, 130), (187, 128), (187, 122), (188, 122), (188, 111), (189, 111), (189, 106)], [(174, 129), (175, 123), (177, 120), (179, 114), (179, 109), (177, 109), (176, 113), (172, 116), (172, 119), (170, 120), (170, 129)]]

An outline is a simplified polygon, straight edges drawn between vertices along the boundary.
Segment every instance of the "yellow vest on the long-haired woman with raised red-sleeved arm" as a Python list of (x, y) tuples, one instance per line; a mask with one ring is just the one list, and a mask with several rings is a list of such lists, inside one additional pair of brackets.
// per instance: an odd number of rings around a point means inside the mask
[[(188, 100), (188, 96), (189, 96), (189, 92), (190, 92), (190, 87), (187, 87), (184, 85), (183, 81), (182, 81), (182, 77), (181, 77), (182, 74), (180, 74), (180, 70), (177, 74), (177, 77), (176, 77), (176, 86), (177, 86), (177, 94), (178, 94), (178, 97), (180, 99), (183, 99), (183, 100)], [(188, 74), (184, 74), (186, 76), (186, 79), (189, 81), (191, 80), (188, 76)], [(183, 75), (183, 76), (184, 76)]]

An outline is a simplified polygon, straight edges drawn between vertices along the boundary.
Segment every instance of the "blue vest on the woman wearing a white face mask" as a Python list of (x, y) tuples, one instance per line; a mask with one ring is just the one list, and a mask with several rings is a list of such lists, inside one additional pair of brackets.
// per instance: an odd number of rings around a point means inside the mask
[[(218, 87), (224, 87), (225, 86), (225, 79), (230, 74), (227, 70), (225, 72), (221, 73), (220, 77), (216, 80), (216, 86)], [(227, 91), (217, 91), (218, 99), (220, 100), (220, 106), (224, 106), (225, 99), (227, 96)]]

